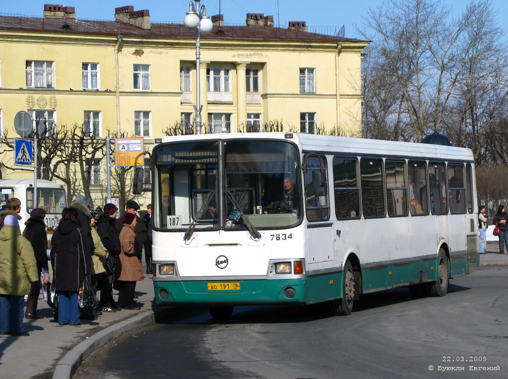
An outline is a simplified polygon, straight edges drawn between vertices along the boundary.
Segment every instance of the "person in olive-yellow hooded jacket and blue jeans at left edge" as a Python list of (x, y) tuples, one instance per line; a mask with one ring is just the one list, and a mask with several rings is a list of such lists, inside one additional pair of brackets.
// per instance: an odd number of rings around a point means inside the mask
[(0, 334), (27, 336), (23, 325), (24, 295), (39, 279), (34, 249), (21, 236), (16, 216), (6, 215), (0, 230)]

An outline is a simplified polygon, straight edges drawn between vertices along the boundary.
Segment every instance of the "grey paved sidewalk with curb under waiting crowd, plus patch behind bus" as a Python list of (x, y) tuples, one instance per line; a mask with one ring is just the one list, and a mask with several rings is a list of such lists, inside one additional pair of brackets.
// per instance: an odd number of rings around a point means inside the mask
[[(480, 266), (508, 265), (508, 254), (499, 254), (499, 243), (487, 242), (487, 254)], [(38, 312), (44, 319), (25, 320), (28, 337), (0, 336), (0, 379), (69, 379), (83, 359), (121, 333), (152, 323), (157, 318), (183, 317), (197, 308), (154, 305), (151, 275), (136, 285), (141, 310), (104, 312), (95, 321), (81, 326), (59, 326), (52, 322), (53, 310), (39, 300)], [(118, 298), (117, 291), (113, 297)]]

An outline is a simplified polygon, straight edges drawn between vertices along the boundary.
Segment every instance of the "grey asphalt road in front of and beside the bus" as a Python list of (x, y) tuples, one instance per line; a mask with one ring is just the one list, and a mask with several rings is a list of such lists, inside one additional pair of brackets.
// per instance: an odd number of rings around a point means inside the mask
[(445, 297), (384, 291), (347, 317), (321, 304), (237, 307), (220, 323), (203, 313), (124, 334), (73, 378), (506, 378), (507, 290), (508, 267), (481, 267)]

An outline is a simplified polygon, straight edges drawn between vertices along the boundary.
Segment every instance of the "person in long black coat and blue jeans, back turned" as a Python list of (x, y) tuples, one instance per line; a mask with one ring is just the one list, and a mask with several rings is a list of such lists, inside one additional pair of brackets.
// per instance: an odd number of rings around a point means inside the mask
[(78, 292), (90, 274), (91, 256), (86, 233), (78, 224), (78, 211), (63, 208), (51, 237), (51, 267), (58, 293), (58, 324), (81, 325)]

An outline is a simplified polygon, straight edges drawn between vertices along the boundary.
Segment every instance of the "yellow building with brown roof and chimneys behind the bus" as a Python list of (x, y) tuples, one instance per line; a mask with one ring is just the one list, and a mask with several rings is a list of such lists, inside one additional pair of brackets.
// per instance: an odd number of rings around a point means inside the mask
[[(2, 133), (15, 137), (14, 116), (26, 111), (56, 125), (85, 124), (99, 137), (144, 137), (149, 148), (172, 125), (192, 124), (199, 69), (204, 133), (263, 130), (277, 121), (284, 131), (361, 135), (366, 41), (308, 33), (301, 22), (274, 27), (262, 14), (247, 14), (245, 26), (217, 15), (201, 36), (196, 68), (194, 30), (151, 23), (148, 10), (132, 7), (116, 8), (114, 17), (80, 20), (58, 5), (45, 5), (40, 18), (0, 16)], [(12, 152), (0, 161), (2, 178), (30, 177), (7, 169)], [(94, 169), (97, 203), (105, 164)]]

